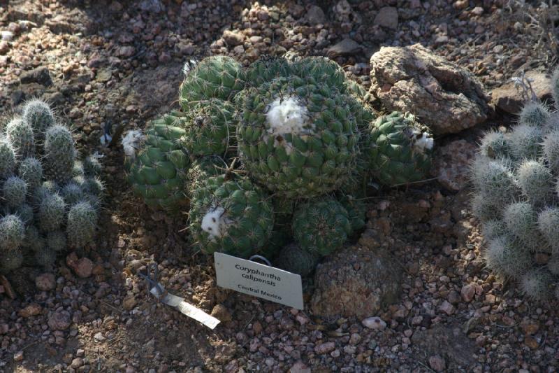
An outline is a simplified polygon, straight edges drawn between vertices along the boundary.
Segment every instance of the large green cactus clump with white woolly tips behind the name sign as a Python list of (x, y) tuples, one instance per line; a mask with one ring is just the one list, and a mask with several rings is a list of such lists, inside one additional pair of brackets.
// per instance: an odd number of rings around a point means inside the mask
[(409, 114), (377, 118), (330, 59), (266, 57), (245, 69), (217, 56), (184, 71), (182, 110), (122, 143), (134, 192), (189, 209), (200, 251), (278, 255), (308, 274), (364, 227), (370, 180), (407, 184), (429, 171), (428, 129)]

